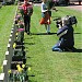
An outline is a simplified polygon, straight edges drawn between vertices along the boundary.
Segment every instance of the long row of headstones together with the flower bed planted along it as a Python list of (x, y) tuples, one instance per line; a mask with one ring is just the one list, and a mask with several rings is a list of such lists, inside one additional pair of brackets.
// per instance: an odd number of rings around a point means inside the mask
[(3, 60), (3, 73), (0, 73), (0, 82), (27, 82), (27, 66), (24, 51), (24, 23), (17, 5), (12, 25), (5, 60)]

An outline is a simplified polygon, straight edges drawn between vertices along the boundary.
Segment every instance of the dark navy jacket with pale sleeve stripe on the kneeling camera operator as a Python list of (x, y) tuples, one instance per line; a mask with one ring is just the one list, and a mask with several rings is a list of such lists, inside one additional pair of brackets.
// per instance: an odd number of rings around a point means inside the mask
[(65, 25), (62, 28), (59, 28), (57, 35), (59, 36), (61, 47), (71, 48), (74, 46), (73, 27), (72, 26)]

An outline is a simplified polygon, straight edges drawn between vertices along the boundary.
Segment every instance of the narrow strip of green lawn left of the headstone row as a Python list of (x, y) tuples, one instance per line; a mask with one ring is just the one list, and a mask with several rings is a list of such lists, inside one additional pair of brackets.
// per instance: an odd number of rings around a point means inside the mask
[(0, 9), (0, 71), (7, 51), (7, 45), (15, 15), (15, 5), (5, 5)]

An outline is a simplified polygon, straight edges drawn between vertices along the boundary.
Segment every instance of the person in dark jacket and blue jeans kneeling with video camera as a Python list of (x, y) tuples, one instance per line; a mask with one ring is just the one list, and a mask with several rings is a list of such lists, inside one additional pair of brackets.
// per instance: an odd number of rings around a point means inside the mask
[(61, 27), (59, 28), (57, 36), (59, 37), (58, 43), (52, 47), (52, 51), (73, 51), (74, 37), (73, 27), (70, 24), (69, 17), (61, 19)]

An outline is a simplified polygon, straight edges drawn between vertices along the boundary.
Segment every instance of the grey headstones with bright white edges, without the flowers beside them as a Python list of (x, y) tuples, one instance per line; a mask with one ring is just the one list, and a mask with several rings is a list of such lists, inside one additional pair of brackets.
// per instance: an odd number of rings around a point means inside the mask
[(12, 52), (13, 52), (13, 43), (14, 43), (14, 35), (15, 35), (15, 27), (13, 26), (11, 30), (9, 44), (8, 44), (8, 51), (5, 51), (5, 60), (3, 60), (3, 73), (0, 74), (0, 82), (8, 82), (8, 69), (10, 69), (10, 63), (12, 60)]

